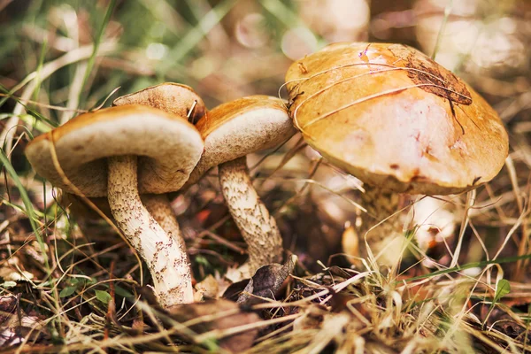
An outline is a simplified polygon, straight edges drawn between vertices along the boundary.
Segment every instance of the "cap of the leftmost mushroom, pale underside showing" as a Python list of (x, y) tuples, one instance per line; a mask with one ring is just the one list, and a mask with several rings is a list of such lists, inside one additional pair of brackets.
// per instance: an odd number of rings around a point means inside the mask
[(189, 179), (204, 142), (188, 121), (142, 105), (81, 114), (36, 137), (26, 149), (37, 173), (54, 186), (74, 193), (53, 164), (54, 146), (66, 177), (85, 196), (106, 196), (105, 158), (138, 156), (139, 192), (167, 193), (180, 189)]

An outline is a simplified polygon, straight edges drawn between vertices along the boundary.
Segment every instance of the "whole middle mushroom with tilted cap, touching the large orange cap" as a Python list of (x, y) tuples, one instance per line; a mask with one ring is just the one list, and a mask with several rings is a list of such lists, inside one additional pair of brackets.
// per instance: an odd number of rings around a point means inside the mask
[(249, 272), (280, 262), (281, 235), (252, 186), (245, 157), (273, 148), (295, 134), (285, 104), (272, 96), (242, 97), (220, 104), (199, 119), (196, 127), (204, 138), (204, 153), (186, 186), (218, 165), (223, 196), (248, 245)]

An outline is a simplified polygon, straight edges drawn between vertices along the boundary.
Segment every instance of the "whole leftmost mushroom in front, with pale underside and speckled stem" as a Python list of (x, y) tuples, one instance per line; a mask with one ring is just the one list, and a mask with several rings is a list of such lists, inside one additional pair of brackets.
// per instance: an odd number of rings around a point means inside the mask
[(189, 122), (142, 105), (82, 114), (27, 145), (35, 172), (66, 192), (107, 196), (114, 219), (150, 269), (165, 307), (193, 301), (186, 251), (142, 205), (139, 193), (180, 189), (204, 142)]

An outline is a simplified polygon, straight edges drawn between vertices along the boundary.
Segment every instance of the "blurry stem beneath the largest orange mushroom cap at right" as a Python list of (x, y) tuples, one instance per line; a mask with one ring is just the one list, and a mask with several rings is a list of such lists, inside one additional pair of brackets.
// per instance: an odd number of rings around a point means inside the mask
[[(361, 194), (361, 201), (367, 212), (361, 214), (361, 225), (357, 228), (361, 256), (369, 254), (367, 243), (373, 256), (378, 256), (378, 264), (395, 266), (403, 256), (406, 241), (400, 218), (398, 214), (393, 215), (401, 207), (401, 196), (367, 184), (363, 187), (365, 193)], [(381, 222), (382, 220), (385, 221)], [(374, 228), (371, 229), (372, 227)]]

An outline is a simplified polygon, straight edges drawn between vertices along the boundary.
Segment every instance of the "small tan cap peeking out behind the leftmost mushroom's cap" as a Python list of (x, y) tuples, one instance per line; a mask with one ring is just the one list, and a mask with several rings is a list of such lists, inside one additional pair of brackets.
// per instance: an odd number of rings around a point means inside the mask
[(142, 104), (180, 117), (187, 117), (194, 102), (196, 105), (189, 117), (192, 122), (196, 122), (206, 112), (203, 99), (187, 85), (165, 82), (126, 96), (120, 96), (112, 102), (112, 105)]

